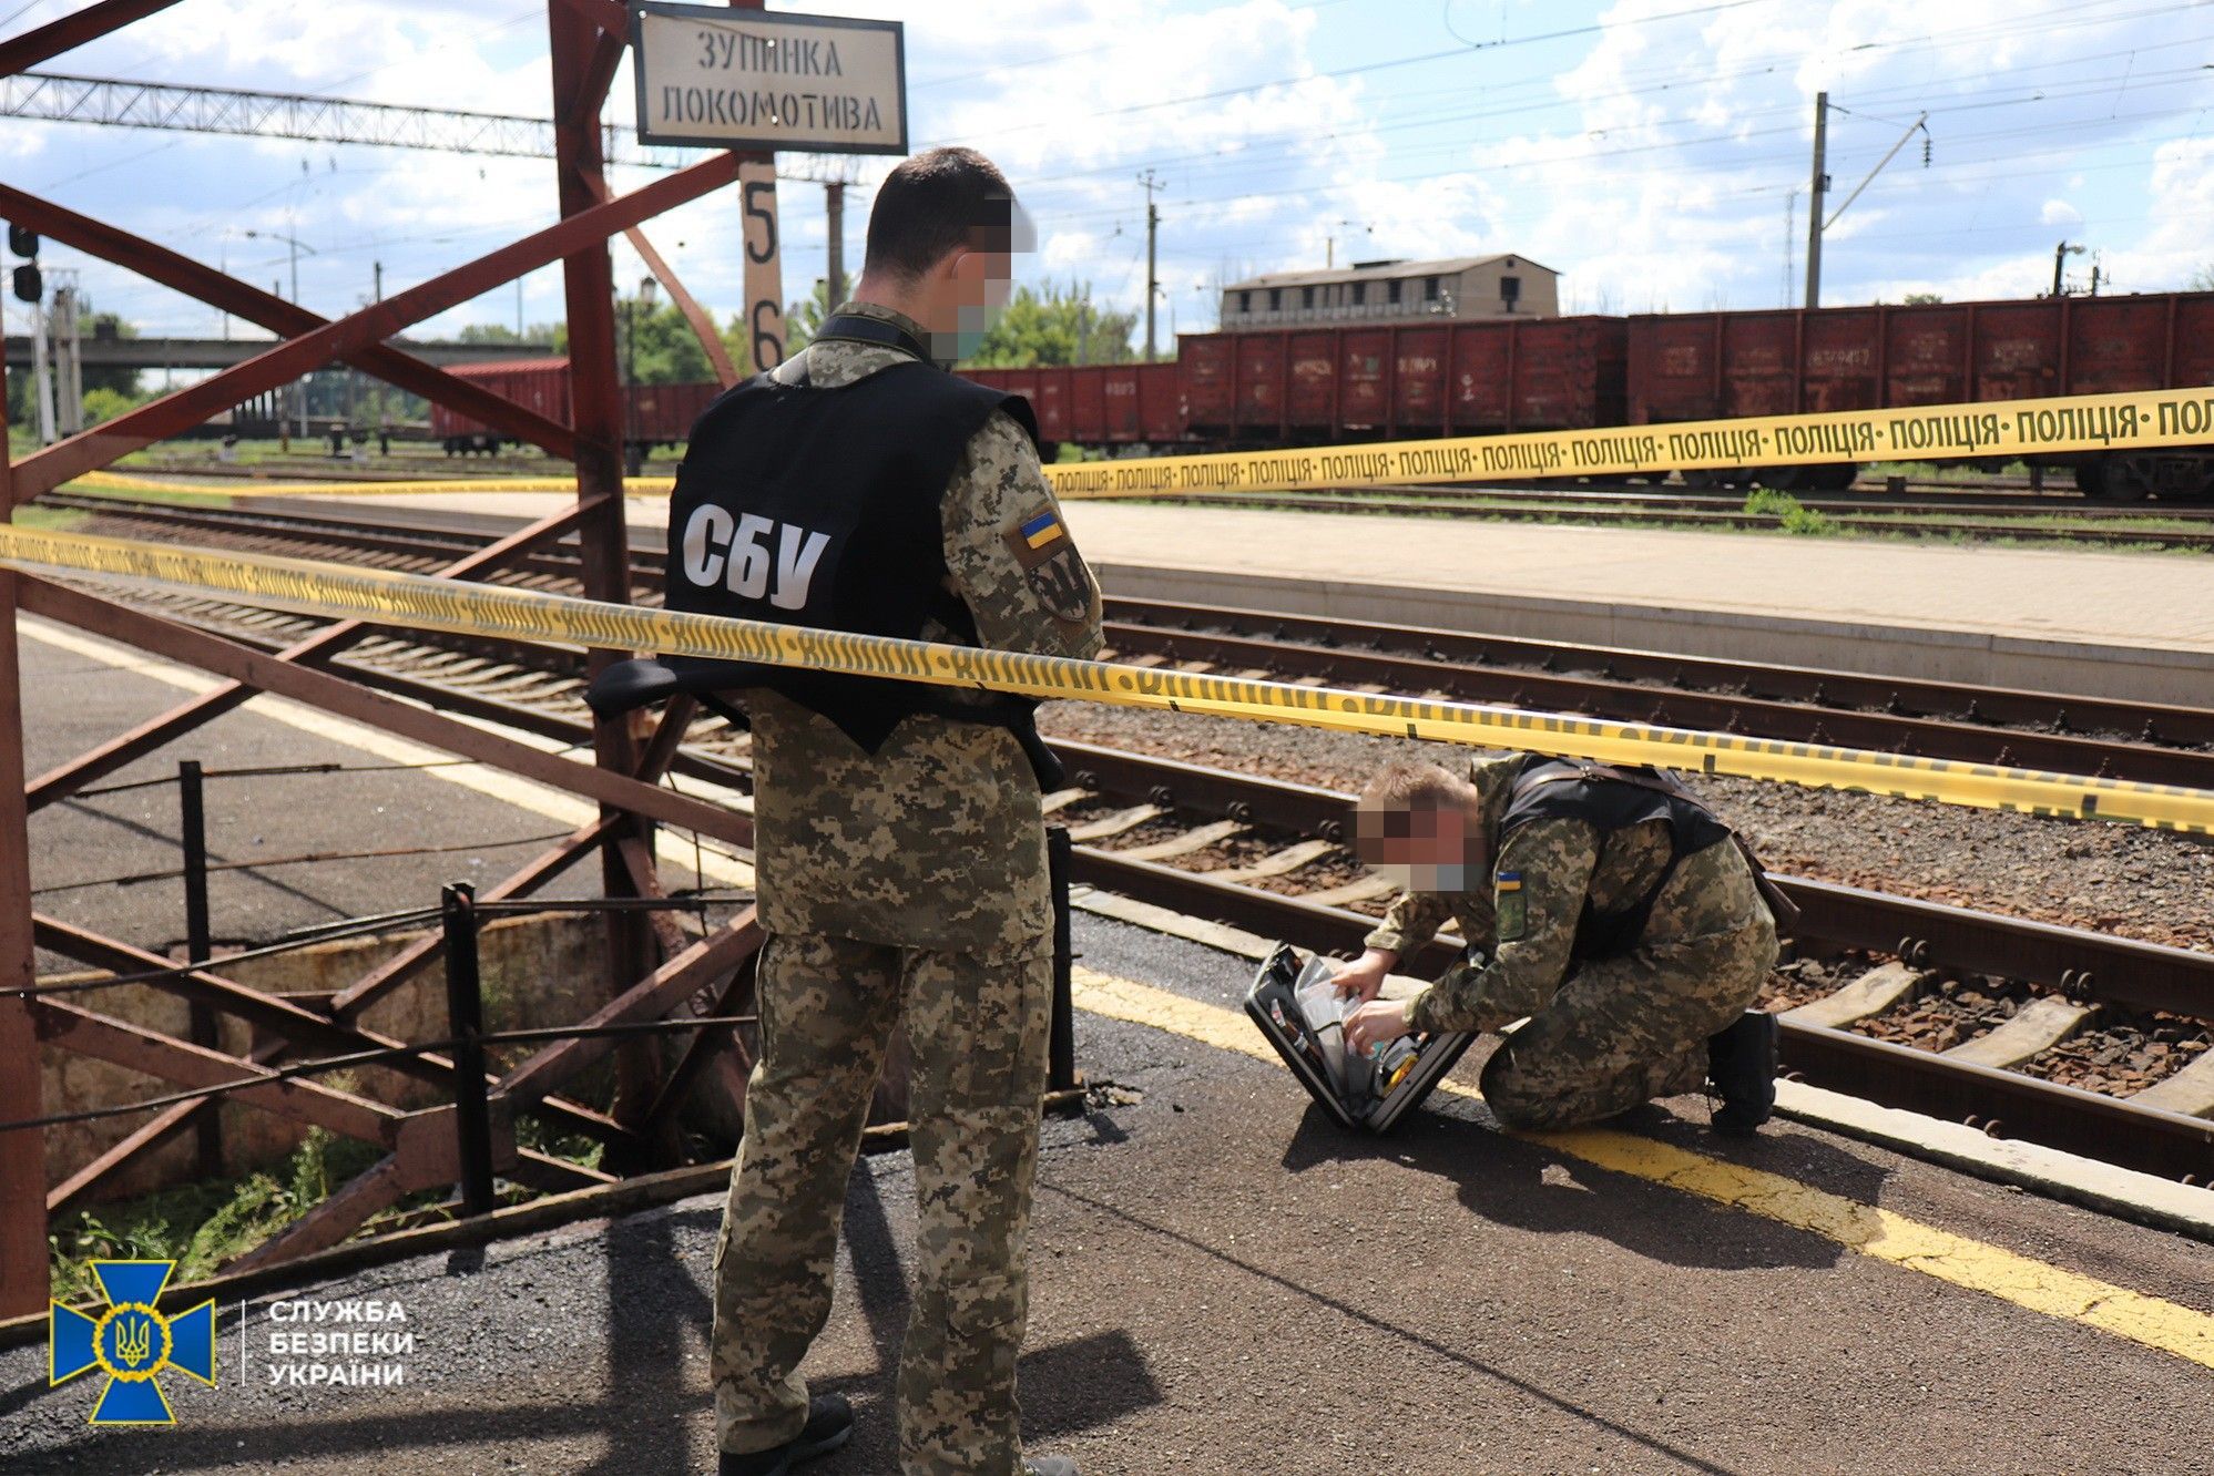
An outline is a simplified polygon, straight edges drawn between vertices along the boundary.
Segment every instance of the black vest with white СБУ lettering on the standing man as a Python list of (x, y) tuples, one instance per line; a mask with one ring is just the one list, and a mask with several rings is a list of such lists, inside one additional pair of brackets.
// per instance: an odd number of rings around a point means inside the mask
[[(1023, 396), (917, 361), (837, 387), (757, 374), (726, 389), (693, 425), (669, 498), (669, 609), (901, 640), (937, 620), (954, 640), (974, 642), (974, 617), (943, 584), (939, 505), (994, 409), (1036, 438)], [(726, 677), (717, 686), (777, 690), (868, 752), (917, 713), (1016, 726), (1030, 710), (952, 708), (948, 695), (914, 682), (711, 666)]]

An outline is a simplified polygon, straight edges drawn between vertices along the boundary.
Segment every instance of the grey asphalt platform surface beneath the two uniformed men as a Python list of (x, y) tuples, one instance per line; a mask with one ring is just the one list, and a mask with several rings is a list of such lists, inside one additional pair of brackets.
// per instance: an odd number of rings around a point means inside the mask
[[(24, 642), (31, 770), (182, 697)], [(117, 779), (339, 761), (359, 750), (246, 710)], [(113, 781), (111, 781), (113, 783)], [(312, 788), (292, 788), (312, 786)], [(239, 797), (239, 799), (232, 799)], [(542, 817), (423, 772), (210, 783), (219, 856), (485, 845)], [(35, 883), (175, 865), (175, 792), (60, 805)], [(217, 932), (414, 905), (520, 852), (217, 879)], [(476, 867), (469, 861), (478, 861)], [(589, 887), (589, 874), (578, 885)], [(175, 883), (40, 905), (159, 949)], [(1251, 965), (1078, 918), (1085, 965), (1233, 1005)], [(42, 960), (58, 967), (58, 960)], [(1481, 1047), (1457, 1071), (1475, 1080)], [(1506, 1137), (1432, 1098), (1393, 1137), (1342, 1133), (1277, 1067), (1078, 1016), (1092, 1111), (1045, 1129), (1025, 1432), (1089, 1476), (1568, 1472), (2214, 1472), (2214, 1374), (2077, 1321), (1855, 1255), (1776, 1219)], [(2044, 1264), (2214, 1312), (2194, 1241), (1776, 1124), (1705, 1133), (1703, 1102), (1625, 1126)], [(177, 1374), (168, 1430), (91, 1430), (97, 1374), (49, 1387), (42, 1343), (0, 1352), (0, 1472), (706, 1472), (708, 1257), (720, 1197), (584, 1222), (261, 1297), (219, 1317), (219, 1383)], [(866, 1160), (839, 1295), (806, 1372), (861, 1427), (824, 1476), (892, 1472), (892, 1370), (912, 1164)], [(272, 1385), (270, 1308), (399, 1303), (399, 1387)], [(385, 1363), (390, 1359), (365, 1359)]]

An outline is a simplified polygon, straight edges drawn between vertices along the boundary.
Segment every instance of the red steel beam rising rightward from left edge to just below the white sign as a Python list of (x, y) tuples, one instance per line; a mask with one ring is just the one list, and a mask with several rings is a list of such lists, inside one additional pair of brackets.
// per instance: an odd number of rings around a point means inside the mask
[[(609, 235), (693, 201), (733, 179), (737, 179), (737, 157), (713, 155), (604, 206), (567, 215), (556, 226), (536, 230), (452, 272), (441, 272), (381, 303), (370, 303), (361, 312), (288, 339), (246, 363), (164, 394), (115, 420), (80, 432), (29, 456), (15, 467), (15, 502), (27, 502), (86, 471), (97, 471), (120, 456), (148, 447), (155, 440), (166, 440), (177, 432), (208, 420), (217, 412), (290, 383), (334, 358), (345, 358), (372, 343), (383, 343), (410, 323), (421, 323), (447, 308), (458, 308), (472, 297), (503, 281), (514, 281), (523, 272), (534, 272), (549, 261), (587, 252), (587, 248), (593, 248), (604, 261)], [(569, 336), (573, 356), (578, 350), (576, 312), (571, 312)], [(580, 491), (589, 493), (591, 489), (580, 487)]]

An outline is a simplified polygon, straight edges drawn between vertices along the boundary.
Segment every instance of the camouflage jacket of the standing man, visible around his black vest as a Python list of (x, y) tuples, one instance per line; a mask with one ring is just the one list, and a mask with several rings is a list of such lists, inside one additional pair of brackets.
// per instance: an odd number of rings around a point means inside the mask
[[(846, 303), (925, 339), (888, 308)], [(848, 385), (908, 358), (875, 343), (808, 345), (813, 383)], [(1038, 540), (1038, 520), (1052, 533)], [(1098, 582), (1021, 425), (994, 412), (941, 502), (948, 589), (994, 651), (1092, 657)], [(1030, 533), (1025, 536), (1025, 527)], [(954, 640), (930, 626), (923, 640)], [(1052, 940), (1038, 783), (1014, 735), (908, 717), (877, 755), (775, 693), (748, 693), (762, 925), (863, 943), (1018, 954)]]

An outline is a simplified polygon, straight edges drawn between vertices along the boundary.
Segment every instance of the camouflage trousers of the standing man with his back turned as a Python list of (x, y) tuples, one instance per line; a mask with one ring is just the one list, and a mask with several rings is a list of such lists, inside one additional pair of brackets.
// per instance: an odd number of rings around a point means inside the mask
[(906, 1476), (1021, 1472), (1014, 1361), (1052, 1020), (1052, 940), (987, 954), (773, 934), (762, 1060), (715, 1244), (711, 1374), (722, 1449), (799, 1434), (795, 1374), (830, 1317), (846, 1182), (892, 1027), (906, 1016), (919, 1204), (899, 1363)]

